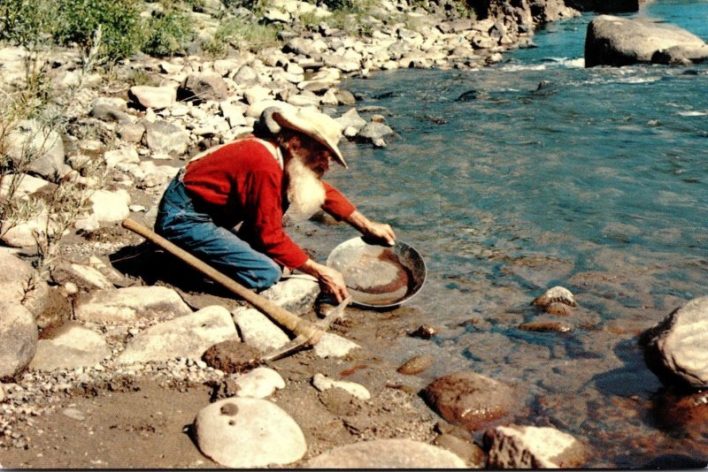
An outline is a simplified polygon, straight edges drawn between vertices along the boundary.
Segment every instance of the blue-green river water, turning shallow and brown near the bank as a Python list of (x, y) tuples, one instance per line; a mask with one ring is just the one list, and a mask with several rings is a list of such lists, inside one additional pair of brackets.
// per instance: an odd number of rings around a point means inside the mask
[[(630, 16), (708, 39), (708, 2), (659, 0)], [(708, 65), (585, 69), (591, 18), (552, 24), (538, 48), (479, 71), (348, 80), (357, 108), (385, 107), (397, 136), (343, 144), (350, 170), (330, 181), (426, 259), (405, 307), (443, 329), (402, 339), (402, 356), (434, 352), (448, 371), (518, 386), (517, 423), (585, 441), (589, 467), (705, 456), (708, 429), (661, 419), (664, 391), (636, 339), (708, 293)], [(570, 316), (529, 306), (553, 285), (575, 293)], [(519, 329), (532, 321), (573, 329)]]

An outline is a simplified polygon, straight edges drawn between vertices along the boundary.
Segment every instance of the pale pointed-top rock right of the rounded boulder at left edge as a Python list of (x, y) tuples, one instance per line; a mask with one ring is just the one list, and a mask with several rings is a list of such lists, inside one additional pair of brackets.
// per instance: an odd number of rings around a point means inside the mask
[(105, 339), (81, 324), (69, 322), (52, 331), (50, 339), (40, 339), (29, 369), (91, 367), (111, 355)]

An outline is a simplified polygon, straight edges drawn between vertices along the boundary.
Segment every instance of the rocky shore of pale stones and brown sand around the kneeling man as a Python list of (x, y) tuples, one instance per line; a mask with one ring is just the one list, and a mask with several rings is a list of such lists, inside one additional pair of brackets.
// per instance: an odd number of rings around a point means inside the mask
[[(473, 372), (427, 383), (418, 374), (430, 358), (387, 360), (392, 339), (435, 336), (406, 308), (376, 326), (365, 311), (347, 310), (312, 350), (235, 370), (228, 360), (243, 346), (269, 352), (288, 333), (120, 226), (126, 217), (150, 226), (160, 194), (189, 157), (250, 133), (267, 106), (319, 107), (351, 141), (386, 146), (396, 130), (385, 110), (358, 110), (357, 97), (339, 87), (344, 77), (494, 64), (506, 50), (533, 47), (538, 25), (578, 14), (560, 0), (484, 7), (470, 18), (446, 2), (422, 9), (385, 1), (380, 8), (396, 21), (372, 18), (371, 34), (352, 36), (329, 27), (322, 7), (273, 2), (264, 18), (285, 26), (281, 48), (215, 60), (134, 57), (112, 80), (82, 71), (78, 52), (57, 51), (48, 77), (73, 97), (72, 126), (59, 134), (27, 120), (12, 130), (9, 155), (33, 140), (41, 152), (16, 187), (4, 179), (4, 198), (50, 202), (71, 182), (84, 189), (89, 211), (68, 227), (47, 225), (49, 203), (23, 221), (4, 221), (2, 466), (582, 466), (592, 452), (566, 432), (512, 423), (523, 405), (511, 385)], [(321, 19), (315, 32), (298, 24), (304, 11)], [(207, 9), (194, 21), (209, 31), (212, 16)], [(4, 89), (21, 87), (24, 54), (0, 49)], [(149, 74), (150, 85), (130, 86), (137, 72)], [(101, 171), (92, 173), (96, 162)], [(33, 265), (42, 250), (37, 232), (64, 234), (43, 278)], [(318, 293), (315, 283), (293, 278), (264, 294), (316, 319)], [(551, 315), (576, 305), (563, 287), (534, 303)], [(694, 314), (706, 313), (704, 301), (696, 306), (685, 310), (684, 324), (702, 323)], [(663, 335), (652, 334), (651, 346), (661, 344)], [(705, 383), (703, 370), (690, 378)]]

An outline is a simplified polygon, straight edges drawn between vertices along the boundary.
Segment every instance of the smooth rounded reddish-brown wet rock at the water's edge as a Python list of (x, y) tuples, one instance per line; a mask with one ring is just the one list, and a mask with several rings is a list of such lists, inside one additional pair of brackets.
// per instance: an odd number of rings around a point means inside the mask
[(464, 371), (438, 378), (421, 396), (444, 419), (470, 431), (501, 418), (515, 406), (509, 385)]

